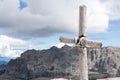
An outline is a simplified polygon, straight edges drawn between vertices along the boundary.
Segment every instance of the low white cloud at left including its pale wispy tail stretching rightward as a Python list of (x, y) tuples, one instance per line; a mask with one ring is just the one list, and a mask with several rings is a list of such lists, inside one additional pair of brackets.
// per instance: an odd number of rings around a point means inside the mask
[(0, 35), (0, 57), (16, 58), (28, 49), (40, 49), (44, 42), (37, 40), (22, 40), (18, 38)]

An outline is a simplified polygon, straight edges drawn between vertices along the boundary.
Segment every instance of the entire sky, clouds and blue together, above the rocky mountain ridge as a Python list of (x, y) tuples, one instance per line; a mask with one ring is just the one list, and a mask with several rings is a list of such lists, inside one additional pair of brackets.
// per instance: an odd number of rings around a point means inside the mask
[(76, 38), (82, 4), (87, 39), (120, 47), (120, 0), (0, 0), (0, 57), (60, 46), (60, 36)]

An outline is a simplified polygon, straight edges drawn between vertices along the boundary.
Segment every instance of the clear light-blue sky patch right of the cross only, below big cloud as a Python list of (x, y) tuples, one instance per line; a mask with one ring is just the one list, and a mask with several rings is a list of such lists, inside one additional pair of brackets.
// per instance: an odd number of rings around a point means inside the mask
[(89, 38), (95, 40), (101, 40), (104, 46), (116, 46), (120, 47), (120, 20), (109, 21), (109, 28), (104, 33), (90, 35)]

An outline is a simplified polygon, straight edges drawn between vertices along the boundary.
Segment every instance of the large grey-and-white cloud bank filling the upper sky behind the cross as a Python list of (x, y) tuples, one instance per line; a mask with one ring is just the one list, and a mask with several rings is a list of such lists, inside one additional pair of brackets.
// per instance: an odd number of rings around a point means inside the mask
[[(21, 10), (20, 1), (26, 2), (27, 7)], [(0, 0), (0, 33), (21, 38), (78, 33), (81, 4), (88, 7), (87, 32), (104, 32), (109, 19), (120, 19), (119, 3), (119, 0)]]

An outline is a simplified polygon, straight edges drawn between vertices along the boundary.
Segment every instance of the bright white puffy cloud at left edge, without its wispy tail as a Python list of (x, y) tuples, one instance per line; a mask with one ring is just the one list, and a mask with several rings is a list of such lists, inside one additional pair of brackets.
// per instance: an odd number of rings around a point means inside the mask
[(8, 57), (8, 58), (19, 57), (24, 50), (20, 50), (20, 49), (14, 50), (12, 48), (13, 47), (21, 48), (22, 46), (25, 45), (26, 42), (23, 40), (0, 35), (0, 57)]

